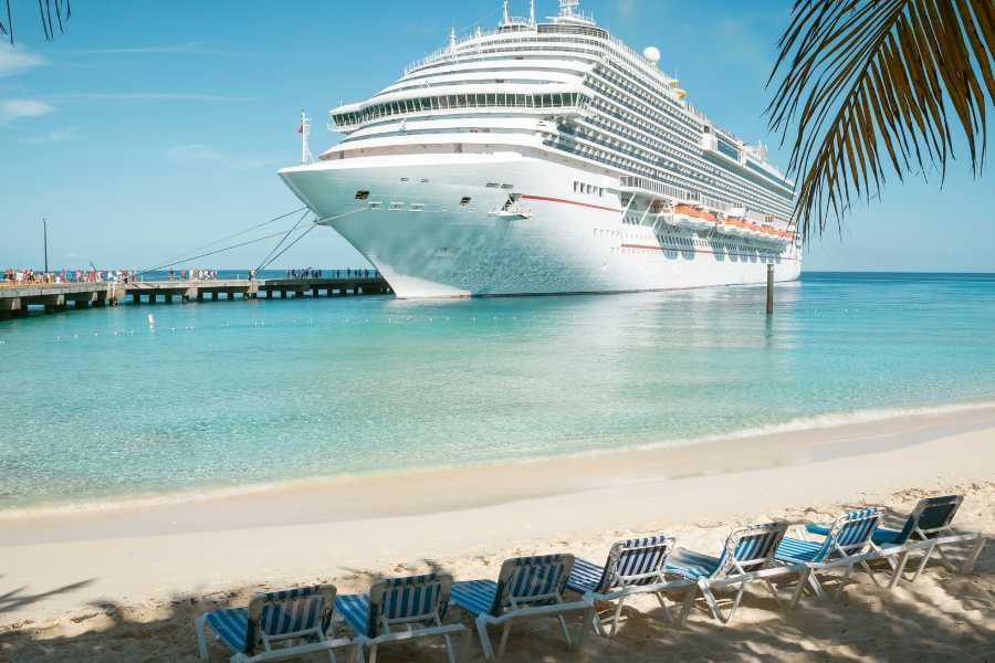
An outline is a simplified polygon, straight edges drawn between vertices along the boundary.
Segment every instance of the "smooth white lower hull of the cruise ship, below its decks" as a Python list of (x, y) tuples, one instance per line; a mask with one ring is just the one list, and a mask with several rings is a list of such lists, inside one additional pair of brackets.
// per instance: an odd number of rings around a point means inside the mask
[[(802, 270), (794, 244), (626, 223), (617, 177), (545, 158), (354, 157), (281, 177), (402, 298), (690, 288), (763, 283), (768, 262), (777, 281)], [(493, 213), (510, 193), (527, 215)]]

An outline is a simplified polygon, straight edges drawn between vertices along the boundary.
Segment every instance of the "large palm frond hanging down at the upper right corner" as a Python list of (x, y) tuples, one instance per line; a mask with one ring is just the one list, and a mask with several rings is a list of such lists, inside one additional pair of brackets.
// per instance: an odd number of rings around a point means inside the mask
[(792, 144), (805, 239), (861, 200), (929, 169), (966, 138), (975, 176), (995, 99), (993, 0), (796, 0), (767, 85), (772, 130)]

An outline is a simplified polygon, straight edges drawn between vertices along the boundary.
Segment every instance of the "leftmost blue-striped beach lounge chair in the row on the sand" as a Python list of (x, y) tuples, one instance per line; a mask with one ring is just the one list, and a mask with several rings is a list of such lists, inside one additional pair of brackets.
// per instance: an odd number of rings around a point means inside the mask
[(315, 652), (327, 652), (335, 662), (335, 649), (353, 645), (346, 638), (328, 638), (335, 594), (331, 585), (301, 587), (259, 594), (249, 608), (207, 612), (196, 621), (200, 660), (208, 660), (206, 628), (210, 627), (232, 651), (232, 663), (276, 661)]

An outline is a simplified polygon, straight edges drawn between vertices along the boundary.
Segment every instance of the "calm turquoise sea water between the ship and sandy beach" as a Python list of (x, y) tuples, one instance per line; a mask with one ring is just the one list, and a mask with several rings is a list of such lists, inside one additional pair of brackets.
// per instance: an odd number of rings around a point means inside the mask
[(0, 509), (995, 399), (995, 275), (806, 274), (763, 308), (733, 287), (0, 322)]

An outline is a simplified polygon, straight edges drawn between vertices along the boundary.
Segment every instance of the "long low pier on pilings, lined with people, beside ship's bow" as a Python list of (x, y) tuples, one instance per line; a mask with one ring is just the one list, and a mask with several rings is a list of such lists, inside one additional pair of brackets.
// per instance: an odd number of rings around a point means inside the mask
[(70, 305), (73, 308), (87, 308), (124, 303), (134, 305), (274, 297), (341, 297), (387, 295), (392, 292), (383, 276), (0, 284), (0, 317), (27, 315), (31, 307), (56, 313), (66, 311)]

